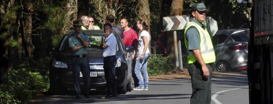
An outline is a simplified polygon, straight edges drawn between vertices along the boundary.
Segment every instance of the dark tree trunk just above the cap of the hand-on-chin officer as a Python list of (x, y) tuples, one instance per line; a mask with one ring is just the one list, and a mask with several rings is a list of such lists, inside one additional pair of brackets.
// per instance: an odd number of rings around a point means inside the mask
[(80, 20), (80, 18), (83, 16), (89, 15), (89, 0), (78, 0), (78, 18), (77, 20)]

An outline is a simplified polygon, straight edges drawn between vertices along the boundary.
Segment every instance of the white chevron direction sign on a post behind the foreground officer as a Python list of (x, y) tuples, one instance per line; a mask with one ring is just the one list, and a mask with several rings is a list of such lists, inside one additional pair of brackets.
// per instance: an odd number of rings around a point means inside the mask
[(186, 15), (163, 17), (163, 29), (164, 31), (182, 30), (188, 21), (189, 17)]

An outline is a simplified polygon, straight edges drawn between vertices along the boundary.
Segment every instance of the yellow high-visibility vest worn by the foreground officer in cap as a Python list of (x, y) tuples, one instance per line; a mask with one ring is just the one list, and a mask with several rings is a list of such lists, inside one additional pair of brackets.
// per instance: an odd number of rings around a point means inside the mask
[(188, 64), (192, 64), (196, 61), (196, 57), (194, 56), (194, 53), (192, 51), (188, 50), (188, 40), (186, 39), (186, 32), (188, 30), (189, 27), (194, 26), (200, 36), (200, 51), (201, 51), (201, 55), (203, 60), (205, 61), (206, 64), (208, 63), (212, 63), (215, 62), (215, 52), (213, 49), (213, 45), (211, 42), (211, 37), (210, 34), (207, 32), (207, 29), (203, 29), (200, 25), (196, 24), (195, 22), (189, 22), (185, 28), (185, 32), (184, 32), (184, 40), (185, 40), (185, 46), (187, 48), (188, 51)]

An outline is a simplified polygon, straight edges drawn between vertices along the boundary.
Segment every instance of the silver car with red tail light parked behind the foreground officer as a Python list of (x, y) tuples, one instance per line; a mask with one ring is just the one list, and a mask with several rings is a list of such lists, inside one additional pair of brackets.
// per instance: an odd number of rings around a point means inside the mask
[(249, 29), (218, 30), (212, 37), (217, 71), (241, 71), (248, 68)]

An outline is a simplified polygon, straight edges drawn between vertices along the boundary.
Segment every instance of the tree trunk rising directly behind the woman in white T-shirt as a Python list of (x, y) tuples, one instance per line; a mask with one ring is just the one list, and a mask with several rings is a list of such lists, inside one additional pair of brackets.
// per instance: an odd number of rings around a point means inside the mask
[[(150, 7), (149, 7), (149, 0), (140, 0), (139, 5), (139, 17), (146, 22), (149, 27), (148, 32), (150, 33)], [(150, 34), (151, 40), (151, 34)], [(151, 46), (151, 41), (149, 41), (149, 46)], [(148, 47), (151, 51), (151, 48)]]

